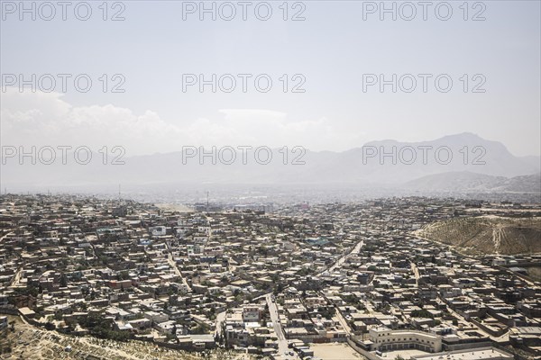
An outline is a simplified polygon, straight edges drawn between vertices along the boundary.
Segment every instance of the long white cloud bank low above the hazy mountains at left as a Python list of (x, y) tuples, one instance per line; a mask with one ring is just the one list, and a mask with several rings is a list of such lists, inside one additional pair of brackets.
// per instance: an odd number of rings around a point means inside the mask
[[(126, 155), (178, 151), (185, 145), (300, 145), (328, 149), (355, 143), (355, 135), (337, 133), (326, 118), (294, 121), (285, 112), (265, 109), (221, 109), (222, 118), (199, 118), (179, 126), (157, 112), (136, 114), (112, 104), (74, 106), (62, 94), (2, 94), (2, 144), (13, 146), (81, 146), (97, 151), (123, 146)], [(330, 146), (329, 146), (330, 145)]]

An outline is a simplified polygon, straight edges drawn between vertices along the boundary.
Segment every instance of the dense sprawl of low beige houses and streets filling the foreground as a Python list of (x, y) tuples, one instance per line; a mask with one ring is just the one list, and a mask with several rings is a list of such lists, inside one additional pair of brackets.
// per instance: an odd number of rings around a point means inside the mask
[[(452, 198), (179, 208), (5, 194), (2, 358), (24, 354), (20, 327), (36, 358), (126, 355), (76, 352), (81, 339), (171, 358), (538, 358), (539, 216), (537, 203)], [(478, 255), (429, 231), (458, 221), (454, 238), (468, 237), (461, 219), (495, 217), (529, 221), (533, 247)]]

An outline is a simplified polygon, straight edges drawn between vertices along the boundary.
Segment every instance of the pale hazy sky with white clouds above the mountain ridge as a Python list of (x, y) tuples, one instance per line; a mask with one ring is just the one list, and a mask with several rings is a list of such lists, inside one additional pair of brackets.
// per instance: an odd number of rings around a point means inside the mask
[[(53, 1), (52, 4), (56, 4)], [(266, 5), (250, 2), (247, 19), (234, 1), (236, 15), (220, 18), (231, 8), (216, 2), (216, 20), (211, 14), (185, 14), (187, 2), (123, 1), (108, 3), (107, 18), (119, 11), (124, 21), (104, 21), (102, 2), (89, 2), (87, 21), (74, 15), (75, 4), (61, 19), (61, 8), (50, 15), (35, 3), (31, 14), (19, 19), (19, 2), (2, 1), (1, 93), (3, 145), (121, 145), (126, 155), (178, 150), (184, 145), (302, 145), (313, 150), (344, 150), (376, 139), (416, 141), (436, 139), (463, 131), (485, 139), (499, 140), (518, 156), (539, 155), (540, 112), (540, 2), (484, 1), (432, 2), (423, 20), (423, 8), (412, 2), (417, 15), (401, 19), (411, 8), (399, 7), (397, 20), (391, 14), (368, 14), (372, 4), (354, 1), (289, 2), (288, 20), (283, 20), (282, 1)], [(28, 7), (32, 2), (25, 3)], [(207, 7), (213, 2), (206, 2)], [(391, 7), (392, 2), (386, 6)], [(363, 9), (366, 19), (363, 19)], [(400, 13), (401, 9), (401, 13)], [(14, 14), (12, 14), (14, 11)], [(85, 15), (84, 6), (78, 8)], [(293, 14), (304, 21), (291, 21)], [(485, 18), (472, 21), (474, 14)], [(70, 74), (67, 91), (56, 76), (55, 91), (32, 93), (30, 85), (18, 91), (9, 74)], [(92, 87), (87, 93), (75, 89), (73, 78), (87, 74)], [(103, 92), (103, 74), (108, 77)], [(115, 74), (121, 76), (112, 78)], [(225, 93), (217, 88), (204, 92), (188, 86), (183, 92), (183, 74), (232, 74), (236, 88)], [(238, 74), (251, 74), (247, 90)], [(254, 77), (270, 76), (271, 90), (257, 91)], [(289, 91), (283, 92), (280, 77), (287, 74)], [(299, 76), (293, 78), (298, 74)], [(417, 88), (406, 93), (391, 92), (386, 85), (363, 91), (363, 74), (383, 74), (391, 79), (412, 74)], [(426, 93), (417, 74), (431, 74)], [(453, 86), (447, 93), (435, 86), (435, 77), (447, 74)], [(468, 76), (463, 92), (463, 75)], [(473, 77), (478, 75), (477, 77)], [(124, 94), (112, 93), (124, 78)], [(283, 79), (283, 77), (281, 77)], [(7, 80), (9, 81), (7, 81)], [(103, 79), (103, 78), (102, 78)], [(291, 88), (302, 79), (304, 93)], [(373, 79), (373, 78), (372, 78)], [(464, 79), (464, 78), (463, 78)], [(264, 80), (264, 79), (263, 79)], [(365, 76), (365, 80), (367, 80)], [(480, 84), (484, 93), (473, 93)], [(18, 80), (17, 80), (18, 81)], [(46, 90), (44, 78), (39, 88)], [(223, 87), (230, 82), (224, 78)], [(265, 81), (261, 81), (264, 87)], [(444, 84), (443, 81), (440, 84)], [(366, 84), (365, 84), (366, 85)]]

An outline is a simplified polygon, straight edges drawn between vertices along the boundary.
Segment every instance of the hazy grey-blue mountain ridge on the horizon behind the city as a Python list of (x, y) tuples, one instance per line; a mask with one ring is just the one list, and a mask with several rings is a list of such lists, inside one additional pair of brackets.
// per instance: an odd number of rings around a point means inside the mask
[[(439, 156), (436, 157), (437, 151)], [(184, 161), (186, 151), (125, 157), (125, 165), (96, 161), (82, 166), (73, 161), (62, 165), (18, 165), (16, 158), (2, 165), (2, 186), (47, 186), (60, 184), (348, 184), (360, 187), (399, 187), (418, 191), (472, 189), (474, 191), (538, 192), (541, 184), (540, 157), (515, 157), (500, 142), (472, 133), (445, 136), (421, 142), (371, 141), (344, 152), (306, 151), (304, 165), (291, 163), (300, 153), (272, 149), (272, 161), (258, 164), (248, 152), (247, 164), (237, 152), (232, 165), (206, 157)], [(386, 155), (387, 154), (387, 155)], [(266, 154), (263, 152), (263, 159)], [(229, 157), (228, 157), (229, 158)]]

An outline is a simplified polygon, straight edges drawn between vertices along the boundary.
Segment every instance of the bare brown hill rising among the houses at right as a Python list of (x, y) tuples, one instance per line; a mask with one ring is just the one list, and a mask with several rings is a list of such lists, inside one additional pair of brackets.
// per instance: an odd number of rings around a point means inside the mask
[(541, 218), (459, 218), (427, 225), (418, 235), (473, 255), (541, 252)]

